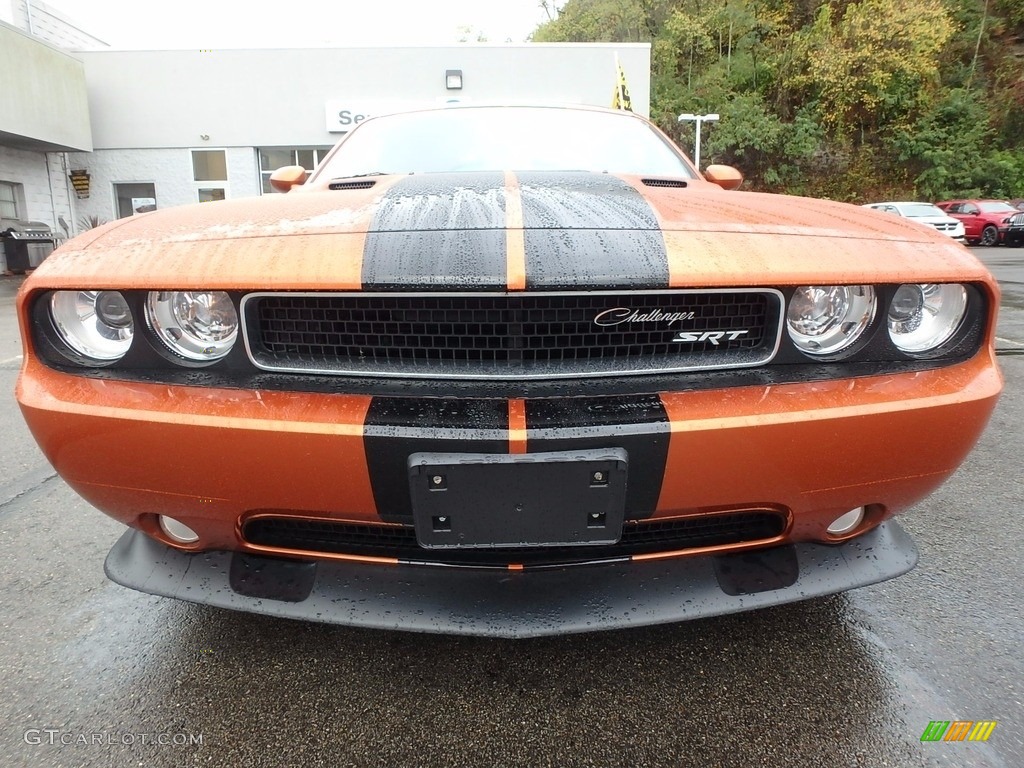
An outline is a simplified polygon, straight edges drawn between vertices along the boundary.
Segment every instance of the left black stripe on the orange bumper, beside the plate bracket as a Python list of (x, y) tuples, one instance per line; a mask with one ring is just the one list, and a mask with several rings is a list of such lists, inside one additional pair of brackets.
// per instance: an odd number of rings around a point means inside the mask
[(506, 399), (374, 397), (362, 446), (377, 514), (413, 524), (409, 457), (417, 453), (507, 454)]

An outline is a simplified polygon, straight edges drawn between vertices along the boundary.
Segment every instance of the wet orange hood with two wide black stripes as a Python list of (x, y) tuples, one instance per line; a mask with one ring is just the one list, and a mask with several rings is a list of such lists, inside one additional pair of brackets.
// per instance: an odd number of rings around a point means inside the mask
[(829, 267), (843, 282), (984, 274), (945, 236), (857, 206), (566, 172), (344, 179), (171, 208), (76, 238), (37, 275), (53, 287), (554, 290), (784, 284)]

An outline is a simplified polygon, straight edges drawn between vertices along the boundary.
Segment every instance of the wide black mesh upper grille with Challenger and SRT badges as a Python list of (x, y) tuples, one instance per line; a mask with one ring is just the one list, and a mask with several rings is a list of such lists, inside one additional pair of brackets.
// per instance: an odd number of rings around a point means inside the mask
[(765, 291), (275, 294), (246, 317), (263, 368), (515, 378), (759, 365), (779, 312)]

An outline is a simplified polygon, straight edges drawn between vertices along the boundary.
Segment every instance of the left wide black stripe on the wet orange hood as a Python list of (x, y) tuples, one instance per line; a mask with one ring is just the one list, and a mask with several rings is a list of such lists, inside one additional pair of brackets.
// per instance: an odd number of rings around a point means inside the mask
[(362, 252), (364, 290), (504, 290), (505, 174), (410, 176), (381, 199)]

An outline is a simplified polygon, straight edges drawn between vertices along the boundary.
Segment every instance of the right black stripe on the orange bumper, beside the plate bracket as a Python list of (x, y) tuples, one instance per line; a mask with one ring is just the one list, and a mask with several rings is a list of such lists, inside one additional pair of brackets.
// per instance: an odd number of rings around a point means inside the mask
[(650, 517), (657, 508), (670, 427), (656, 394), (526, 400), (527, 453), (626, 450), (626, 519)]

